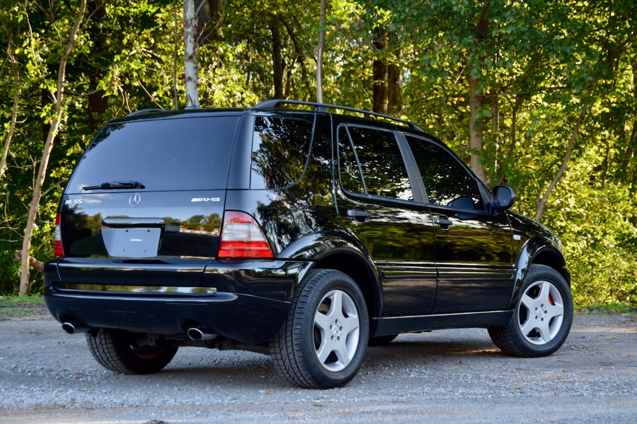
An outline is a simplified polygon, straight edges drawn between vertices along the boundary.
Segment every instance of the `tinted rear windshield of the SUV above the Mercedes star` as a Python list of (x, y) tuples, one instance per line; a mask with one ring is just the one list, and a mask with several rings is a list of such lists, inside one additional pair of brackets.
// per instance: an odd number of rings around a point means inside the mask
[(67, 193), (138, 181), (148, 191), (225, 189), (239, 116), (189, 117), (105, 126), (90, 143)]

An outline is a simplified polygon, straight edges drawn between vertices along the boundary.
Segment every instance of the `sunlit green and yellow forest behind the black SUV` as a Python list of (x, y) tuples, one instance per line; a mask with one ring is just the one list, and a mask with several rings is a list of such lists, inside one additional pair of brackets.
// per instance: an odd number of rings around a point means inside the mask
[[(0, 293), (17, 294), (14, 252), (52, 258), (62, 189), (104, 122), (187, 104), (186, 21), (176, 0), (0, 6)], [(637, 305), (634, 0), (194, 6), (202, 106), (322, 96), (417, 122), (561, 237), (578, 305)]]

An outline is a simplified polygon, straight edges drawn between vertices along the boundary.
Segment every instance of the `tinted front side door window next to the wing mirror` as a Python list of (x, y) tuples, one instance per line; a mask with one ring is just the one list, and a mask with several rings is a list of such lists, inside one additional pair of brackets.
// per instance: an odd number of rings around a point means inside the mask
[(462, 209), (483, 209), (478, 186), (454, 156), (442, 147), (407, 136), (429, 203)]

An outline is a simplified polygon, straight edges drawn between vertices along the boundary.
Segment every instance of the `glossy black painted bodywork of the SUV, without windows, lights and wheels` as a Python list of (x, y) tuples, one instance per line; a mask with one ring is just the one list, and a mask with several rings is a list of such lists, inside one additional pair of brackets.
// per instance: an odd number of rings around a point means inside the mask
[[(215, 113), (162, 112), (152, 119)], [(475, 179), (479, 192), (469, 199), (471, 205), (462, 199), (447, 205), (428, 203), (426, 179), (405, 135), (442, 146), (431, 136), (386, 122), (321, 112), (222, 113), (238, 117), (234, 142), (229, 140), (227, 147), (225, 188), (65, 193), (60, 212), (67, 257), (49, 261), (45, 268), (45, 300), (55, 318), (176, 338), (185, 338), (187, 324), (196, 322), (243, 344), (261, 344), (280, 328), (304, 275), (313, 268), (330, 268), (345, 272), (361, 286), (371, 318), (370, 336), (375, 336), (503, 326), (511, 318), (529, 264), (559, 268), (568, 279), (559, 240), (540, 224), (510, 211), (490, 214), (488, 207), (480, 206), (489, 203), (489, 191), (464, 164), (462, 169)], [(250, 166), (256, 116), (313, 122), (310, 154), (294, 184), (251, 189), (268, 184), (252, 181), (259, 177)], [(139, 115), (115, 124), (138, 119), (149, 118)], [(341, 186), (336, 141), (343, 126), (373, 126), (395, 136), (412, 189), (410, 200), (353, 193)], [(273, 157), (282, 154), (275, 151)], [(132, 206), (135, 193), (141, 201)], [(254, 216), (276, 259), (216, 260), (224, 210)], [(149, 237), (159, 231), (157, 253), (117, 256), (114, 251), (122, 243), (108, 245), (104, 231), (128, 228), (153, 230)], [(134, 234), (132, 238), (140, 233)], [(65, 290), (68, 284), (203, 287), (216, 288), (217, 293), (112, 295)]]

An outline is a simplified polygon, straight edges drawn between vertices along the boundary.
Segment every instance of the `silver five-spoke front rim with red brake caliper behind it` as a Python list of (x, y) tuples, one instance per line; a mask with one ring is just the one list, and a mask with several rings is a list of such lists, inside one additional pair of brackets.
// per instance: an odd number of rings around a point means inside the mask
[(524, 338), (533, 344), (547, 344), (557, 336), (564, 321), (564, 301), (557, 287), (536, 281), (520, 299), (518, 324)]

